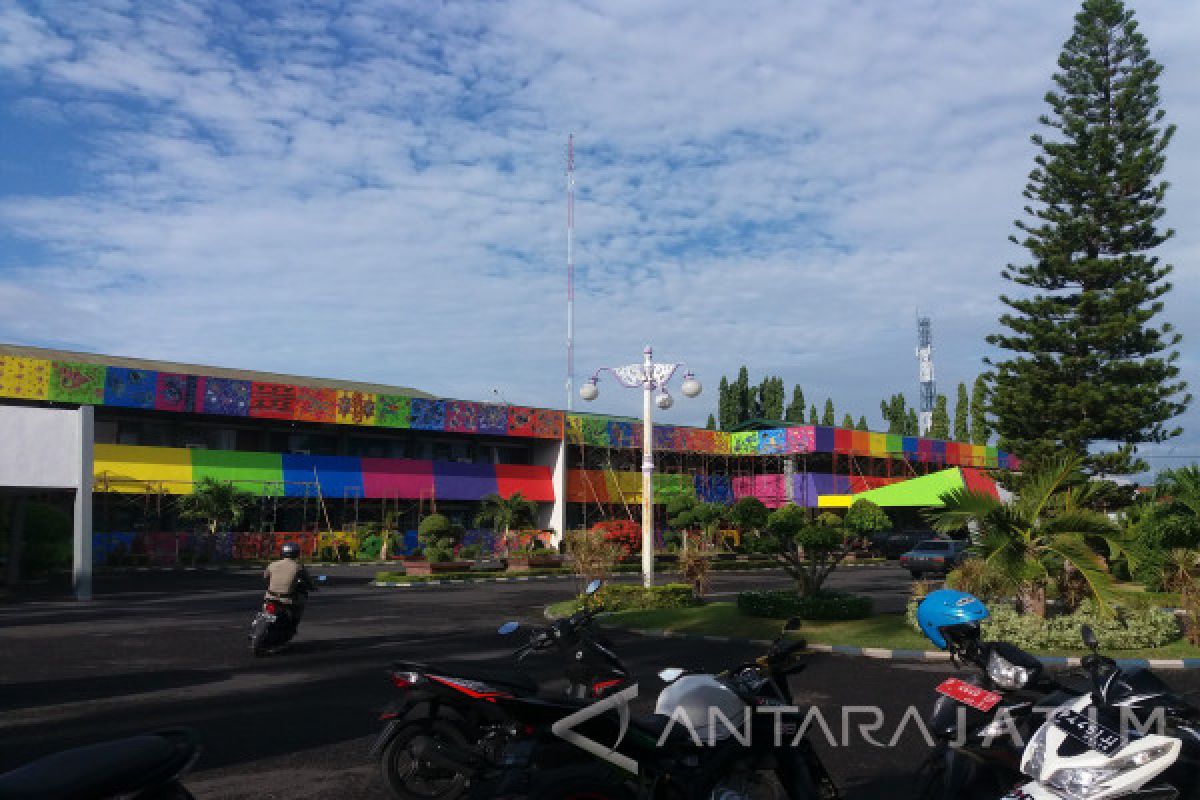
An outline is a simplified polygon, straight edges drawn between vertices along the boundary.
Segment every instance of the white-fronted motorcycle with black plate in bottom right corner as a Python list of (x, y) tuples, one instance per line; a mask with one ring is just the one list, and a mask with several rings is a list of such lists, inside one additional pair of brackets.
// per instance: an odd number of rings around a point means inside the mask
[(1034, 780), (1006, 800), (1200, 796), (1200, 712), (1153, 673), (1099, 655), (1086, 625), (1082, 638), (1092, 691), (1038, 728), (1021, 759)]

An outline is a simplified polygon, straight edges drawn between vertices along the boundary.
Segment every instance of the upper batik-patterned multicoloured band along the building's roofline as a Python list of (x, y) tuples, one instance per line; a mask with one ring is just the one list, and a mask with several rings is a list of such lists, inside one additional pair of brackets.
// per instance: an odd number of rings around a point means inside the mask
[[(0, 397), (533, 439), (565, 435), (584, 447), (642, 446), (642, 426), (628, 419), (12, 355), (0, 355)], [(811, 425), (744, 433), (660, 425), (654, 427), (654, 446), (720, 456), (823, 452), (946, 467), (1019, 467), (1014, 456), (996, 447)]]

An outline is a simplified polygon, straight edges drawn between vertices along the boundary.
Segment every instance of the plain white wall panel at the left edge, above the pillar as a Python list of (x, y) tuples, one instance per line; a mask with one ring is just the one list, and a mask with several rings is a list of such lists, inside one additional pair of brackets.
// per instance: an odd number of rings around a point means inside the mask
[[(91, 477), (91, 408), (0, 405), (0, 486), (78, 489)], [(84, 468), (86, 458), (86, 469)]]

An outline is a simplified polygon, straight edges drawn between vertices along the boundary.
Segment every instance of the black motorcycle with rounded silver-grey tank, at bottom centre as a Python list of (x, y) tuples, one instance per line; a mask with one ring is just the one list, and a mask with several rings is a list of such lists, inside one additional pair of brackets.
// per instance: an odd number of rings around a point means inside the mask
[[(832, 800), (838, 789), (809, 740), (788, 675), (803, 640), (719, 674), (671, 668), (654, 714), (632, 715), (636, 685), (590, 708), (497, 697), (520, 723), (493, 776), (492, 798), (529, 800)], [(697, 723), (697, 721), (700, 721)]]

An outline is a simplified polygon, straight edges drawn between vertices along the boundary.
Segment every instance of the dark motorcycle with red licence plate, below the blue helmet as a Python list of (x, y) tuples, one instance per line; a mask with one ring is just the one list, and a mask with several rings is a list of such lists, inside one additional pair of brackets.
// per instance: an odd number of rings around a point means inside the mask
[(1016, 645), (980, 642), (978, 634), (971, 628), (947, 636), (954, 663), (978, 673), (937, 686), (928, 718), (935, 747), (918, 772), (914, 800), (986, 800), (1021, 783), (1025, 742), (1049, 710), (1080, 693)]

